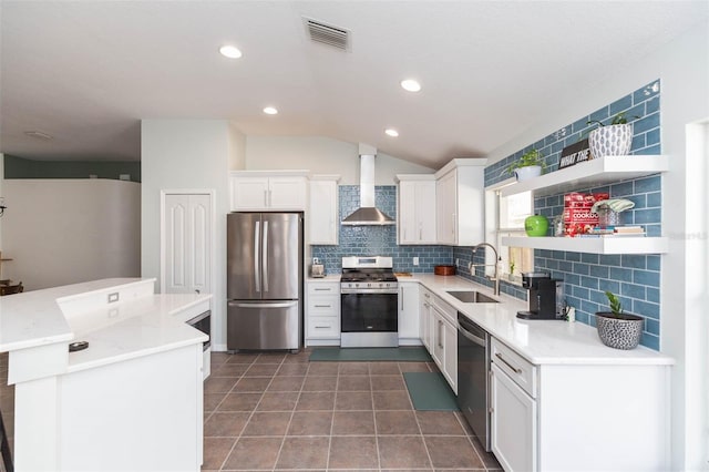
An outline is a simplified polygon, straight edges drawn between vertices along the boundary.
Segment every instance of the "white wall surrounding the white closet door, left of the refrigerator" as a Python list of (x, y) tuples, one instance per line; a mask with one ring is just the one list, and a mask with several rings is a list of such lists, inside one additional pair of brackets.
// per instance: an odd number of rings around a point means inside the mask
[(143, 277), (160, 280), (160, 191), (214, 189), (213, 342), (226, 349), (226, 214), (228, 170), (243, 158), (238, 130), (223, 120), (143, 120), (141, 123)]

